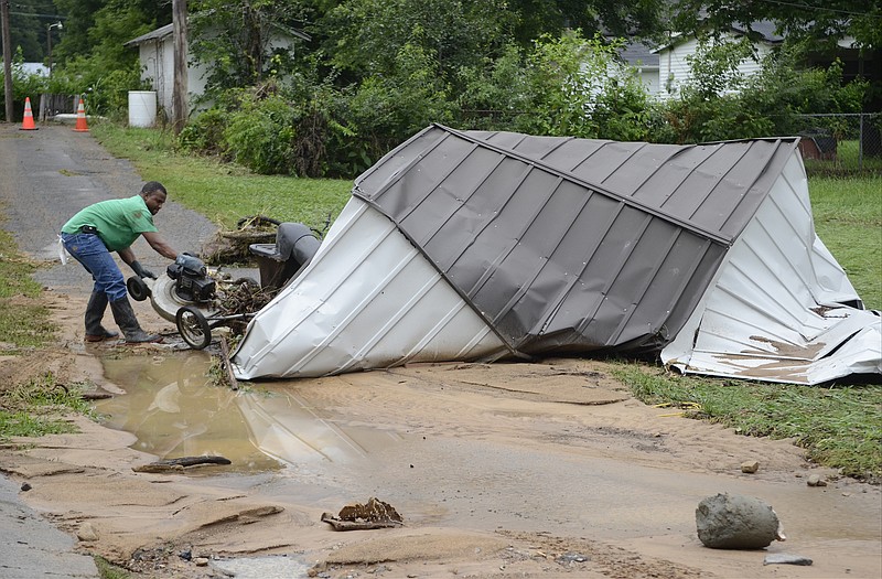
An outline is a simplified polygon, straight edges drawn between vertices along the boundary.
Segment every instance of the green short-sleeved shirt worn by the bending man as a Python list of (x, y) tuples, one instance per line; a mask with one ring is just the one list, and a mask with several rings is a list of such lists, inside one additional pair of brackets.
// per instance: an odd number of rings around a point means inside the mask
[(62, 227), (63, 233), (79, 233), (84, 225), (98, 229), (98, 236), (110, 251), (131, 246), (142, 233), (155, 233), (153, 215), (141, 195), (99, 201), (79, 211)]

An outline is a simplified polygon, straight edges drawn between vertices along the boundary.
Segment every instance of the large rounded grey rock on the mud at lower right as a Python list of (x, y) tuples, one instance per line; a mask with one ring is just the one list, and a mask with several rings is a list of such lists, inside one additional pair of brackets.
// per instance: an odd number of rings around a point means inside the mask
[(698, 538), (712, 549), (762, 549), (783, 539), (778, 516), (752, 496), (718, 494), (696, 508)]

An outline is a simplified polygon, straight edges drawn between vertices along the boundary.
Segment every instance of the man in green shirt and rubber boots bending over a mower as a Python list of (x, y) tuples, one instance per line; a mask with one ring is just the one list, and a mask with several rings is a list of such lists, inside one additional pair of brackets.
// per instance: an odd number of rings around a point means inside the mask
[(128, 199), (95, 203), (79, 211), (62, 227), (62, 243), (67, 251), (92, 274), (95, 286), (86, 307), (86, 342), (100, 342), (119, 334), (101, 325), (108, 302), (114, 320), (122, 330), (126, 342), (160, 342), (161, 336), (141, 330), (129, 302), (126, 279), (110, 255), (116, 251), (141, 278), (153, 278), (141, 267), (131, 250), (131, 244), (143, 236), (150, 247), (169, 259), (178, 251), (166, 244), (153, 225), (155, 215), (168, 195), (161, 183), (150, 181), (141, 193)]

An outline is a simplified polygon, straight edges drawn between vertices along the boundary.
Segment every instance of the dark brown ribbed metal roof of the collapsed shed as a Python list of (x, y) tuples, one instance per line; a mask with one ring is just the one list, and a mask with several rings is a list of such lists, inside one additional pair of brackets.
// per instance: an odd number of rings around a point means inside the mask
[(433, 126), (353, 194), (395, 222), (513, 350), (659, 350), (795, 146)]

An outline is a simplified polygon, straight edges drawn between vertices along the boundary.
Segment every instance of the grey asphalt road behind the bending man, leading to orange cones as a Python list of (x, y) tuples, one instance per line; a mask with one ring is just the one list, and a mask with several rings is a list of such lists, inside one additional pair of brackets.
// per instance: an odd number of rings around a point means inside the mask
[[(19, 249), (36, 259), (57, 259), (57, 235), (77, 211), (108, 199), (127, 197), (144, 181), (131, 163), (111, 157), (90, 133), (69, 126), (46, 125), (22, 131), (0, 126), (0, 203)], [(216, 232), (204, 216), (174, 201), (174, 191), (154, 217), (160, 234), (179, 251), (198, 251)], [(143, 239), (132, 246), (148, 269), (159, 272), (169, 260)], [(128, 269), (123, 269), (129, 275)], [(92, 288), (89, 276), (75, 261), (41, 269), (37, 279), (53, 289)]]

